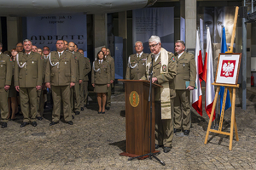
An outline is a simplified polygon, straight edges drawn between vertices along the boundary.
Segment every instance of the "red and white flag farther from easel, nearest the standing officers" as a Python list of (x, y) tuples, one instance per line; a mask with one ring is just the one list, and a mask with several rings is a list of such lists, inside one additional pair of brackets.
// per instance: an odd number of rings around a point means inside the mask
[(199, 115), (202, 116), (202, 99), (201, 99), (201, 77), (203, 71), (201, 48), (199, 31), (196, 31), (196, 42), (195, 42), (195, 68), (196, 68), (196, 78), (195, 78), (195, 89), (192, 91), (192, 107)]

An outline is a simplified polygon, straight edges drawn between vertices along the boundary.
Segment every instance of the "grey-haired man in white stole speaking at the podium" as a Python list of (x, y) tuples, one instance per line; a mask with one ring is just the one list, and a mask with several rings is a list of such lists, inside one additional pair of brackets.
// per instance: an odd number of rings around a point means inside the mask
[[(154, 90), (155, 105), (155, 136), (158, 144), (155, 148), (164, 146), (164, 152), (172, 149), (173, 139), (173, 98), (175, 97), (174, 78), (176, 76), (176, 62), (174, 54), (161, 48), (160, 37), (151, 36), (148, 40), (149, 48), (152, 54), (148, 55), (146, 75), (143, 80), (149, 78), (149, 70), (153, 65), (152, 82), (158, 83), (163, 88)], [(154, 57), (153, 64), (152, 55)], [(149, 79), (148, 79), (149, 80)]]

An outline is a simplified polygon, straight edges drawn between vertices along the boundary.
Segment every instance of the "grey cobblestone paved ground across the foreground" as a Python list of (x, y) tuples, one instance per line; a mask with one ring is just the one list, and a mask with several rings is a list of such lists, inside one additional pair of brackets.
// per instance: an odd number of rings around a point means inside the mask
[[(247, 91), (247, 111), (241, 110), (241, 99), (236, 99), (236, 120), (239, 141), (233, 141), (229, 150), (229, 138), (210, 134), (204, 144), (207, 131), (207, 114), (201, 117), (192, 112), (191, 133), (188, 137), (177, 133), (173, 149), (161, 153), (159, 162), (149, 159), (127, 161), (119, 156), (125, 151), (125, 95), (116, 88), (110, 111), (97, 114), (96, 102), (79, 116), (73, 126), (60, 122), (49, 127), (50, 112), (38, 127), (20, 128), (20, 121), (9, 122), (0, 129), (1, 169), (256, 169), (256, 90)], [(240, 92), (238, 92), (240, 94)], [(90, 94), (95, 99), (95, 94)], [(204, 105), (204, 104), (203, 104)], [(19, 117), (21, 118), (21, 117)], [(230, 130), (230, 109), (224, 116), (224, 128)]]

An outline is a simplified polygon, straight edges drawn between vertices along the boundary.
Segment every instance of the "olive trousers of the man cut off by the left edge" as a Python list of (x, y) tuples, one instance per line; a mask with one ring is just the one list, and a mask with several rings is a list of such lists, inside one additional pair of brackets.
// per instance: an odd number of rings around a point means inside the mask
[(9, 115), (8, 95), (9, 95), (9, 90), (6, 91), (4, 88), (0, 88), (0, 111), (1, 111), (2, 122), (8, 122), (8, 119), (7, 119)]

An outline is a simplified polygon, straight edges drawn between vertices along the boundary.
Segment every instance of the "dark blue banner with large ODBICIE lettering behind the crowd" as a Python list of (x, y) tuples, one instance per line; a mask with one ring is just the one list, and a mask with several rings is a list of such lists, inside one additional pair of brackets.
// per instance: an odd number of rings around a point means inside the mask
[(38, 48), (55, 50), (55, 42), (63, 39), (87, 51), (86, 14), (27, 17), (26, 24), (27, 38)]

